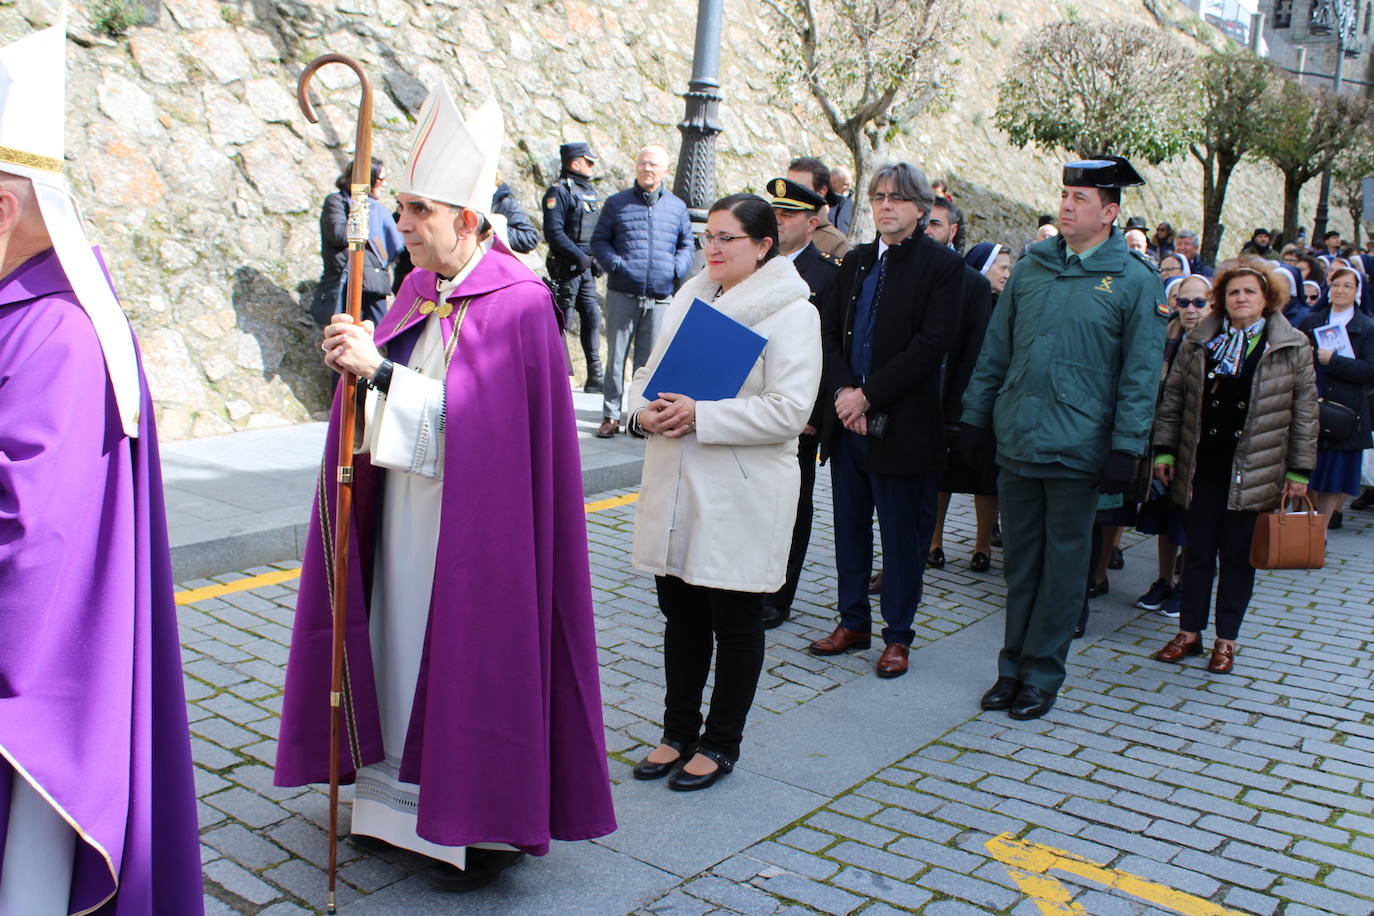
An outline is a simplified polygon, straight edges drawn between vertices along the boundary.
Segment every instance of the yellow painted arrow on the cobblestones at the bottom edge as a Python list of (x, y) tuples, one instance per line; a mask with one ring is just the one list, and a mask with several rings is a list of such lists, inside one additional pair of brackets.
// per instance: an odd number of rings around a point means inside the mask
[(1021, 887), (1021, 893), (1035, 901), (1041, 916), (1087, 913), (1083, 906), (1073, 902), (1072, 891), (1048, 875), (1050, 871), (1105, 884), (1183, 916), (1245, 916), (1239, 911), (1219, 906), (1212, 901), (1156, 884), (1128, 872), (1106, 868), (1062, 849), (1015, 839), (1011, 834), (993, 836), (985, 847), (993, 858), (1007, 867), (1011, 879)]

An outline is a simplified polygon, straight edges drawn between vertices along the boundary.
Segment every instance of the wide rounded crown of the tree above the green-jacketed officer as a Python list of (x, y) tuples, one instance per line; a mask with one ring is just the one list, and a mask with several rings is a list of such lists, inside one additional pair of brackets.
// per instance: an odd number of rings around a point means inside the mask
[(1194, 62), (1158, 29), (1052, 22), (1017, 49), (998, 87), (995, 122), (1018, 147), (1158, 163), (1191, 139)]

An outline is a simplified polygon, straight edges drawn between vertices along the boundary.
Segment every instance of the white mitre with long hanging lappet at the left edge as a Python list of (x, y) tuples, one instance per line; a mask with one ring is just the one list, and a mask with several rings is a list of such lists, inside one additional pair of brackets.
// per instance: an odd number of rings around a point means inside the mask
[(140, 389), (133, 334), (63, 174), (66, 30), (63, 11), (56, 25), (0, 48), (0, 172), (33, 183), (52, 247), (100, 341), (124, 433), (136, 437)]

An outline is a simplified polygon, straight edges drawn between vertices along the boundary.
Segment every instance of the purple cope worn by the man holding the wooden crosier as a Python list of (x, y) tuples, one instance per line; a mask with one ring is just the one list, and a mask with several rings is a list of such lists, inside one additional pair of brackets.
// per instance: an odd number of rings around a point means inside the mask
[[(581, 461), (548, 288), (500, 244), (449, 295), (469, 302), (445, 379), (438, 562), (401, 779), (419, 784), (418, 832), (444, 846), (616, 829), (600, 713)], [(436, 301), (414, 271), (376, 331), (404, 361)], [(441, 319), (445, 339), (455, 314)], [(278, 786), (328, 779), (335, 394), (305, 547), (286, 674)], [(367, 615), (385, 474), (354, 461), (339, 768), (382, 759)], [(323, 501), (323, 504), (322, 504)]]

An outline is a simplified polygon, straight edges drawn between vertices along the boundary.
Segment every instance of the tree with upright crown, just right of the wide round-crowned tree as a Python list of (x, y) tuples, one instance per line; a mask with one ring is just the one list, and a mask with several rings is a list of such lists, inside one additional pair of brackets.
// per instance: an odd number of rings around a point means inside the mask
[(1271, 63), (1249, 51), (1213, 51), (1198, 62), (1198, 135), (1189, 151), (1202, 163), (1202, 260), (1213, 264), (1231, 173), (1264, 139), (1268, 121), (1263, 102), (1279, 77)]

